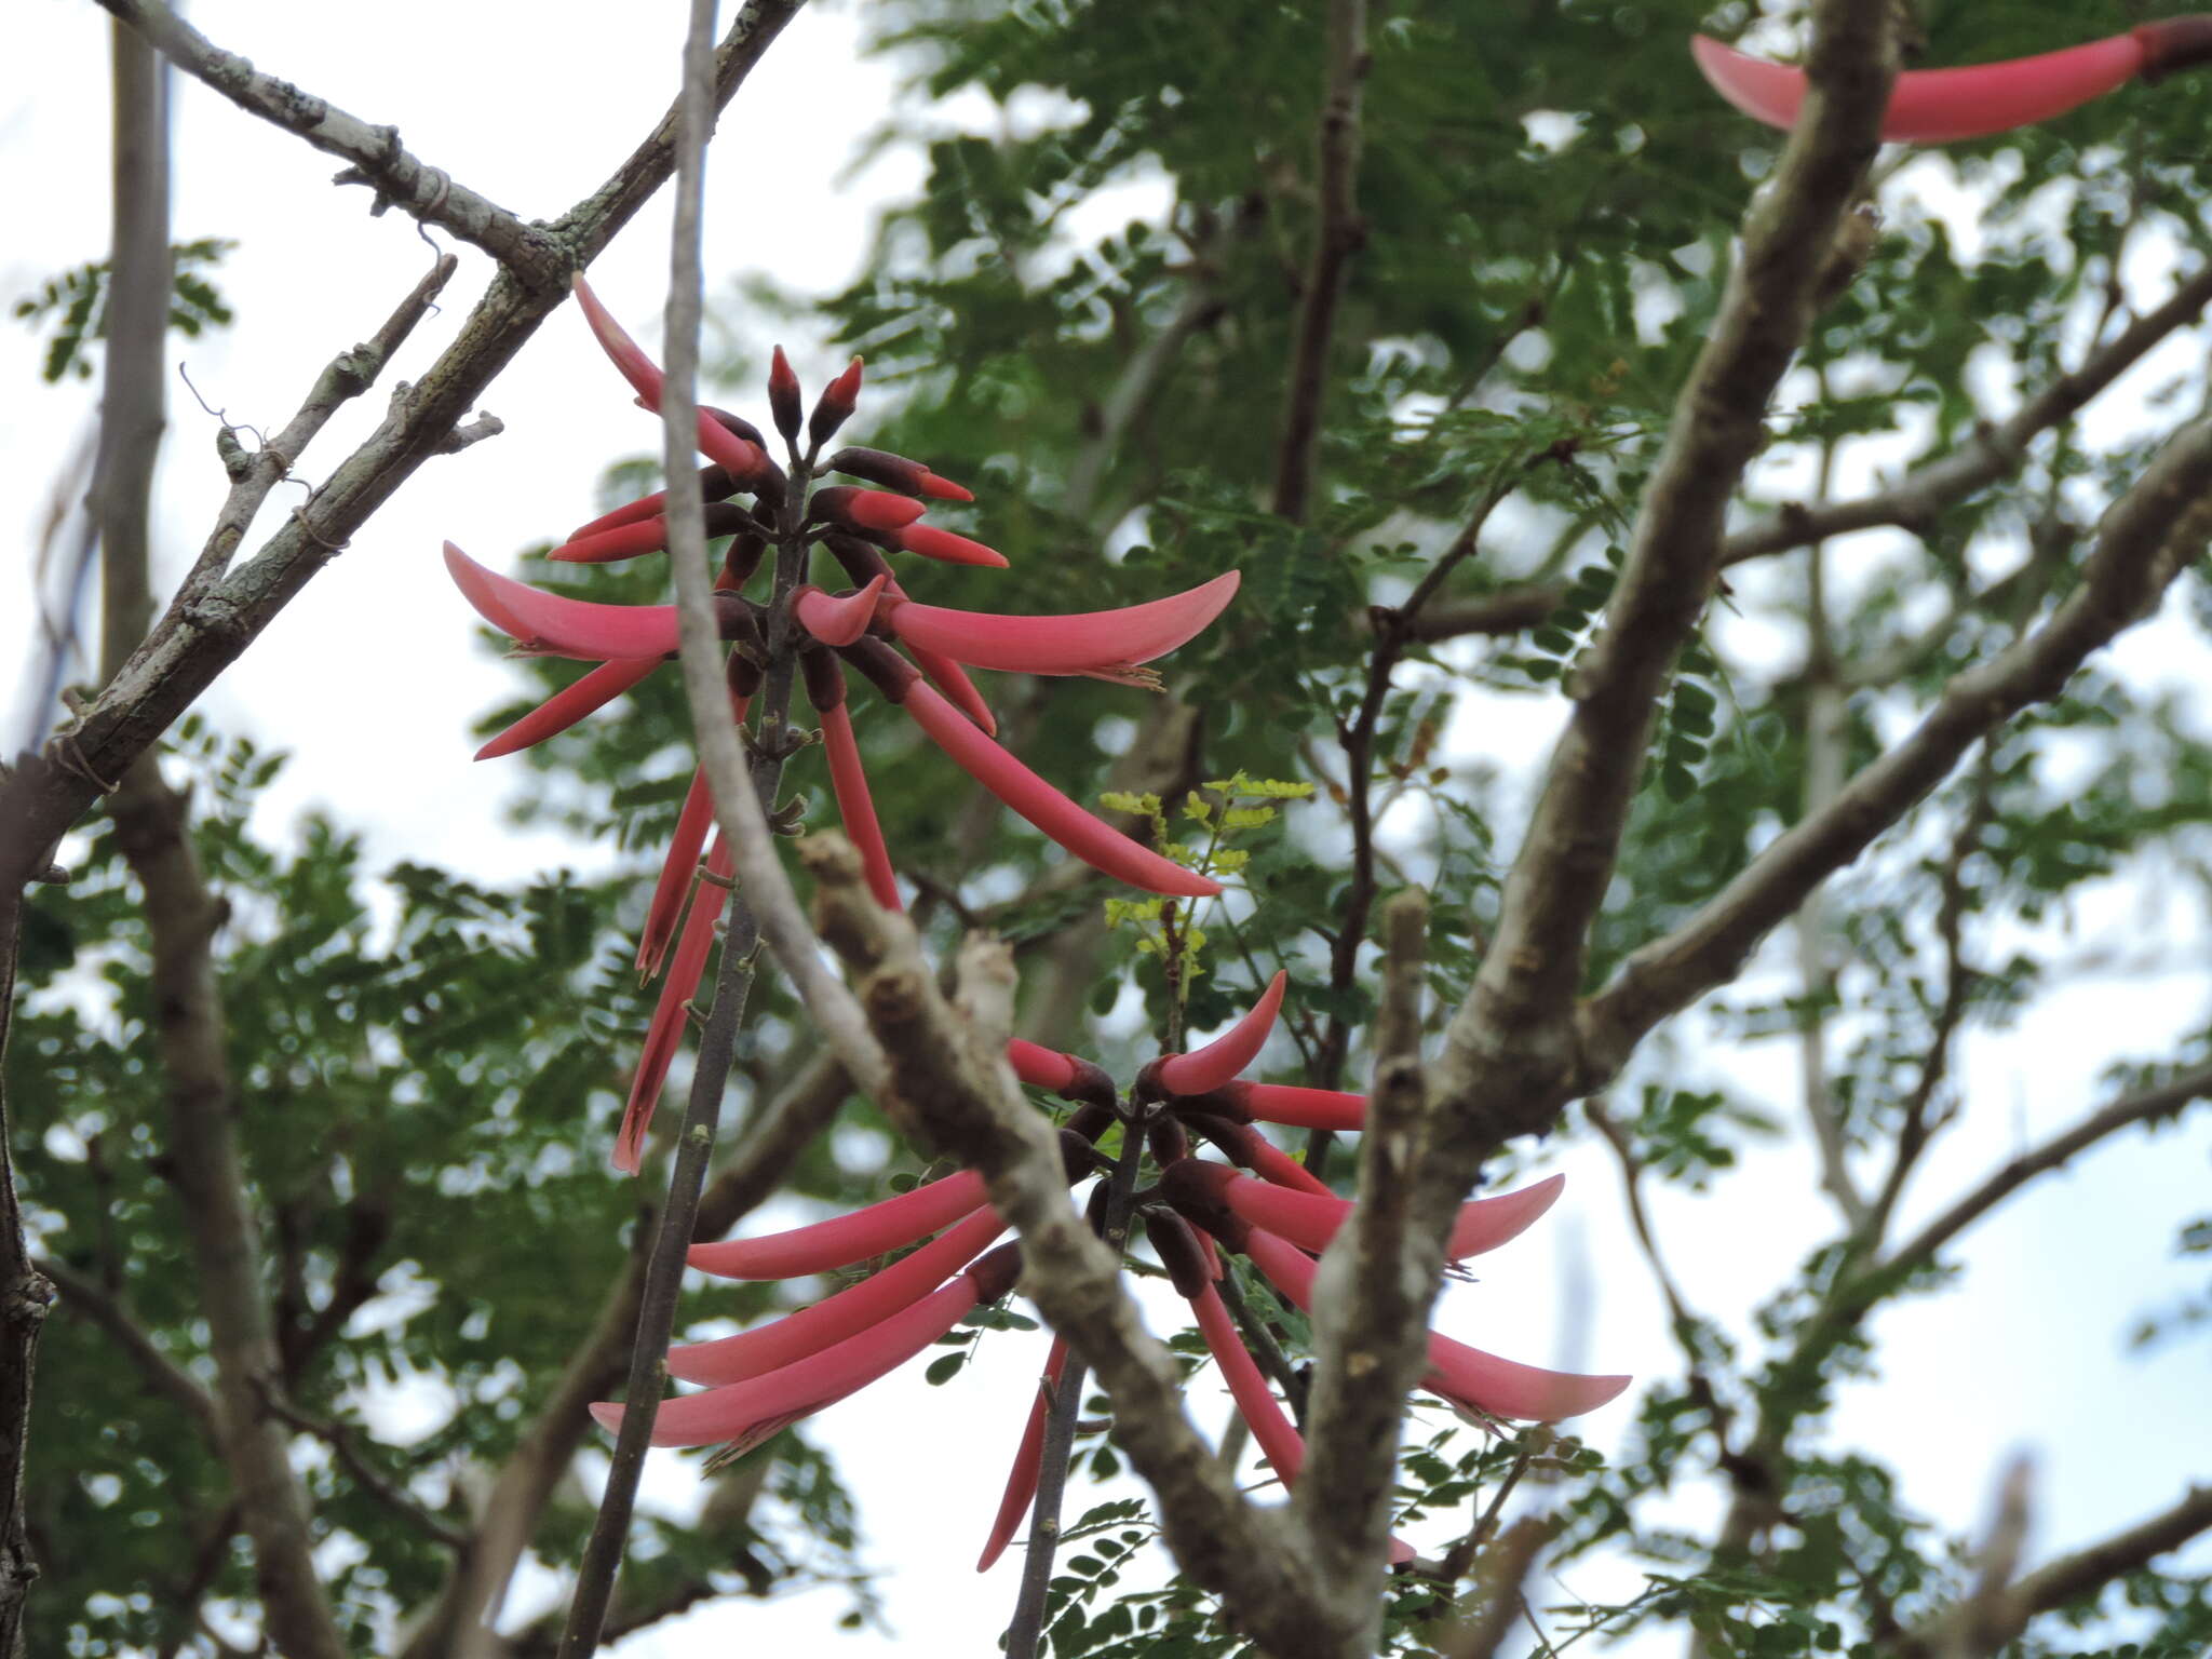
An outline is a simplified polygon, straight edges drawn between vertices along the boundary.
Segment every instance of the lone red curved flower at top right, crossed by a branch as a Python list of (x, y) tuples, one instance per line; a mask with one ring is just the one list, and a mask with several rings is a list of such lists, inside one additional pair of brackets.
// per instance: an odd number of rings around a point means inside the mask
[[(1747, 58), (1694, 35), (1690, 53), (1712, 88), (1752, 119), (1790, 128), (1805, 104), (1805, 71)], [(2212, 60), (2212, 15), (2161, 18), (2124, 35), (1971, 69), (1909, 69), (1882, 111), (1882, 139), (1951, 144), (2066, 115), (2130, 80), (2159, 82)]]

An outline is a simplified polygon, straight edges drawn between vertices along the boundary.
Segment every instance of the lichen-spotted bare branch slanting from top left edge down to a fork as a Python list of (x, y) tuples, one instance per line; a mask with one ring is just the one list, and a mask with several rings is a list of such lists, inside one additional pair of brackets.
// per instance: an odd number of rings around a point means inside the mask
[(146, 35), (186, 75), (215, 88), (248, 115), (259, 115), (314, 148), (349, 161), (336, 184), (374, 188), (372, 212), (396, 206), (427, 226), (449, 230), (498, 259), (526, 288), (557, 292), (566, 283), (568, 250), (553, 232), (524, 223), (469, 186), (456, 184), (442, 168), (418, 161), (400, 146), (396, 126), (369, 126), (288, 80), (263, 75), (246, 58), (210, 42), (161, 0), (100, 0), (100, 4)]

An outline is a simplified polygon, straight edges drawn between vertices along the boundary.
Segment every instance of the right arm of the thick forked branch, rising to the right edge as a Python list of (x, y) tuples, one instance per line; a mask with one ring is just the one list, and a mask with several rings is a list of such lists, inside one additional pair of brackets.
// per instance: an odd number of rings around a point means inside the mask
[[(1659, 1020), (1730, 980), (1805, 894), (1858, 858), (1986, 732), (2057, 697), (2081, 661), (2135, 626), (2212, 535), (2212, 422), (2181, 431), (2106, 515), (2081, 586), (2035, 635), (1953, 679), (1902, 743), (1798, 821), (1697, 916), (1646, 945), (1582, 1015), (1584, 1086), (1597, 1086)], [(1489, 971), (1489, 964), (1484, 964)]]

